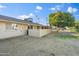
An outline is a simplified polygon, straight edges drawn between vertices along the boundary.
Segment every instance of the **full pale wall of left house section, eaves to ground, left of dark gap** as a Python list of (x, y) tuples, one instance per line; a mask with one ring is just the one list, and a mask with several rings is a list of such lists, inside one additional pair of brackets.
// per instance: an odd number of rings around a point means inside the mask
[[(12, 24), (17, 24), (17, 30), (12, 28)], [(27, 24), (9, 21), (0, 21), (0, 39), (10, 38), (26, 34)]]

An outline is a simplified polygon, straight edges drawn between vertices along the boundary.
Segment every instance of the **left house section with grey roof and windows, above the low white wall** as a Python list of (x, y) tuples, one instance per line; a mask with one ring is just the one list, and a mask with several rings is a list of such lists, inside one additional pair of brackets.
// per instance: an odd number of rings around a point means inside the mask
[(7, 30), (26, 30), (28, 24), (21, 19), (0, 15), (0, 31)]

